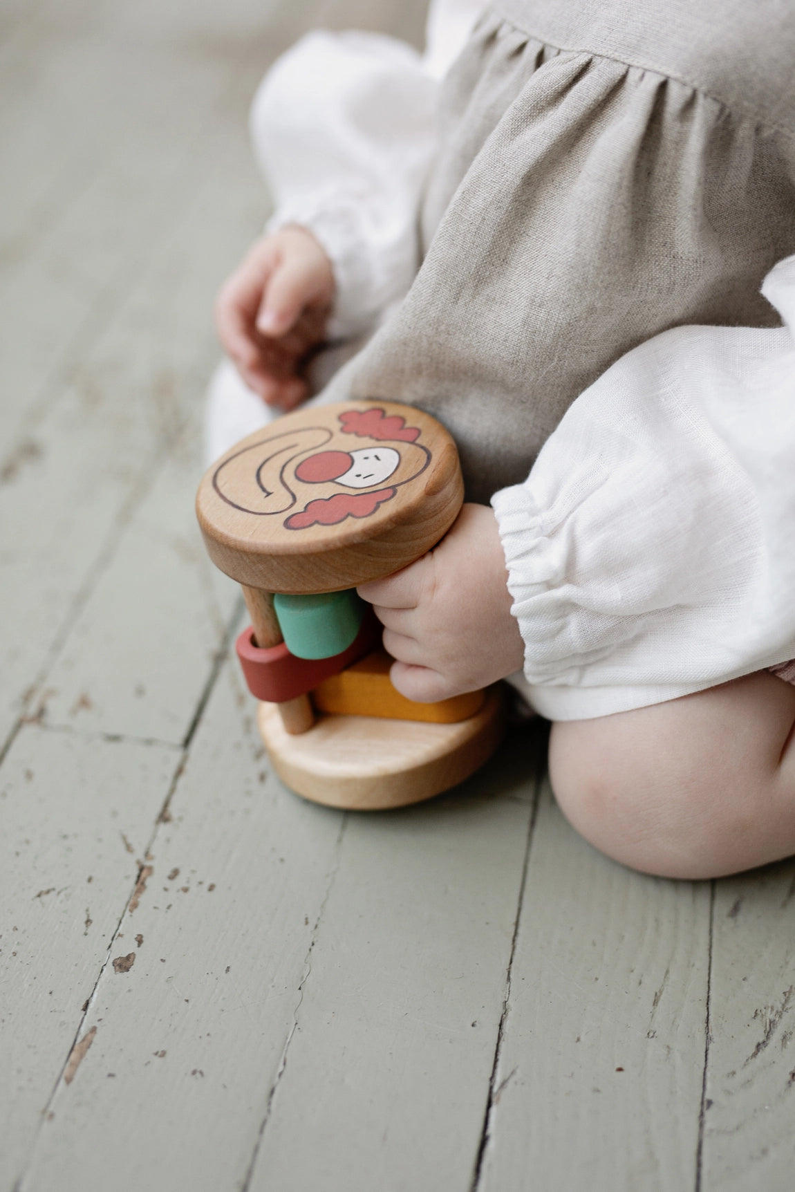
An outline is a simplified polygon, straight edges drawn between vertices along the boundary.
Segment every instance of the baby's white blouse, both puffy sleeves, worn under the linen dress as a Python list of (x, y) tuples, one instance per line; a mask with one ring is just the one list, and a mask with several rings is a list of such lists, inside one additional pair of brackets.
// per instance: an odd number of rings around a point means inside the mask
[[(333, 333), (411, 285), (439, 79), (480, 10), (431, 5), (424, 56), (311, 33), (257, 92), (277, 211), (335, 269)], [(521, 689), (553, 720), (676, 699), (795, 657), (795, 257), (763, 293), (780, 330), (684, 327), (573, 403), (528, 479), (492, 505), (526, 645)]]

